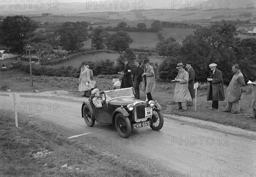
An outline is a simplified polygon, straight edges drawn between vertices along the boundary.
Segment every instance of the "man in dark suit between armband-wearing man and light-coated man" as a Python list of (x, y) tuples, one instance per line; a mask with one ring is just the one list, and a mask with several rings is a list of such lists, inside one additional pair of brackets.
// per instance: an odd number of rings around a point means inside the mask
[(134, 76), (133, 76), (133, 83), (134, 83), (134, 90), (135, 90), (135, 98), (140, 99), (140, 82), (142, 79), (143, 69), (139, 64), (138, 60), (134, 61), (134, 65), (136, 66), (134, 70)]

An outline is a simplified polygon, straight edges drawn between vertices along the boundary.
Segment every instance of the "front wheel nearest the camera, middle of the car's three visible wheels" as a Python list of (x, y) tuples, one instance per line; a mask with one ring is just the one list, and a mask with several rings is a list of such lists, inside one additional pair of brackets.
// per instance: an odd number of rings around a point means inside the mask
[(131, 135), (131, 122), (128, 117), (121, 113), (116, 115), (115, 119), (116, 130), (122, 138), (127, 138)]

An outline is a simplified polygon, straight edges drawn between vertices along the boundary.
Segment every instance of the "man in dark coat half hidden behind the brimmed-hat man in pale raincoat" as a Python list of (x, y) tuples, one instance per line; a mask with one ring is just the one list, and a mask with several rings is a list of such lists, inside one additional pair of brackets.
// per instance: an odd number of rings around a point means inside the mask
[(187, 101), (187, 106), (193, 106), (193, 98), (195, 98), (195, 70), (191, 67), (191, 62), (186, 62), (185, 66), (189, 73), (189, 93), (192, 98), (192, 101)]

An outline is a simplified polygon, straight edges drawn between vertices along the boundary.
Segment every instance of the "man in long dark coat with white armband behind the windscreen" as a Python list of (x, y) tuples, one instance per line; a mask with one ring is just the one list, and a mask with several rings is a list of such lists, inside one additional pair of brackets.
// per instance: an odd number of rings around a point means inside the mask
[(132, 79), (131, 79), (131, 66), (128, 63), (128, 60), (126, 58), (124, 59), (124, 64), (125, 64), (125, 69), (122, 72), (124, 76), (121, 82), (121, 88), (133, 87)]

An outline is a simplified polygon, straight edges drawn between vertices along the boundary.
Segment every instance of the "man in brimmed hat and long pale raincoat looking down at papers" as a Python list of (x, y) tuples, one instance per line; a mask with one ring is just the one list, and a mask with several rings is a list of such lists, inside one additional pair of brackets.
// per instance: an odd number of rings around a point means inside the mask
[(177, 64), (176, 69), (178, 69), (178, 75), (175, 78), (176, 87), (174, 92), (174, 101), (178, 102), (178, 108), (176, 110), (182, 109), (186, 111), (186, 102), (192, 101), (189, 93), (189, 73), (184, 70), (184, 65), (182, 63)]

